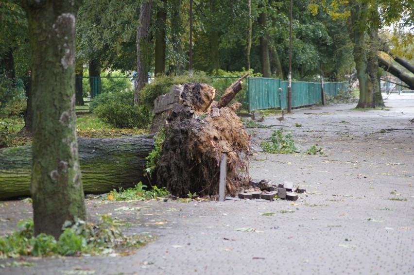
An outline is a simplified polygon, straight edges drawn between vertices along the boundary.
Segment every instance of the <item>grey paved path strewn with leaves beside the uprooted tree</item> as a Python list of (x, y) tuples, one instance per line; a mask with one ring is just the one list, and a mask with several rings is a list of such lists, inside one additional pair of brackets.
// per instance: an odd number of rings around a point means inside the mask
[[(25, 258), (35, 264), (15, 267), (20, 259), (0, 259), (0, 274), (414, 274), (414, 95), (389, 96), (389, 110), (355, 105), (293, 110), (282, 122), (266, 117), (271, 129), (248, 129), (251, 177), (307, 189), (296, 202), (88, 200), (91, 219), (120, 215), (133, 223), (125, 233), (156, 241), (125, 257)], [(300, 152), (315, 144), (325, 154), (260, 152), (276, 129), (292, 131)], [(30, 217), (22, 204), (9, 206)]]

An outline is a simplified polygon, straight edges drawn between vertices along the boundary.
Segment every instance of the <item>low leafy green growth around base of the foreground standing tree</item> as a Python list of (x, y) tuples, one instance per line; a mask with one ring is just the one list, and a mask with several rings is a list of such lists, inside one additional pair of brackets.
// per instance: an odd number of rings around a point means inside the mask
[(151, 236), (123, 235), (110, 215), (102, 215), (96, 225), (81, 220), (75, 220), (75, 223), (67, 221), (58, 240), (44, 233), (34, 236), (33, 220), (20, 222), (17, 226), (18, 231), (0, 238), (0, 258), (122, 255), (154, 239)]

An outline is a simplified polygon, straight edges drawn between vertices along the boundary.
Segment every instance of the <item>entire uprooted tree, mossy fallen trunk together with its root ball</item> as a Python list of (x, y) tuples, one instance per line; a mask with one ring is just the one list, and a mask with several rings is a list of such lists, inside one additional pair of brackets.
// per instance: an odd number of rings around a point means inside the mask
[[(222, 153), (227, 154), (226, 193), (234, 196), (248, 184), (250, 137), (234, 112), (241, 104), (226, 107), (247, 75), (226, 89), (220, 109), (213, 101), (215, 89), (206, 84), (175, 86), (172, 97), (164, 96), (158, 107), (165, 119), (159, 122), (168, 123), (159, 123), (158, 129), (165, 127), (168, 137), (157, 166), (158, 187), (181, 197), (189, 192), (216, 195)], [(145, 157), (154, 149), (152, 136), (78, 138), (78, 145), (86, 194), (133, 187), (139, 181), (149, 186), (144, 169)], [(30, 196), (31, 171), (30, 145), (1, 149), (0, 200)]]

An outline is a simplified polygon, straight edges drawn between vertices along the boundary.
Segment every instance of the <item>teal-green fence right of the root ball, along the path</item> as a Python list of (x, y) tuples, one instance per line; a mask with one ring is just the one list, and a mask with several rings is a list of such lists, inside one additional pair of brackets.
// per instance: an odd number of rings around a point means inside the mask
[[(250, 111), (288, 107), (288, 82), (280, 79), (248, 78), (248, 109)], [(324, 83), (326, 95), (336, 96), (340, 90), (348, 90), (347, 82)], [(292, 108), (322, 102), (321, 84), (292, 82)]]

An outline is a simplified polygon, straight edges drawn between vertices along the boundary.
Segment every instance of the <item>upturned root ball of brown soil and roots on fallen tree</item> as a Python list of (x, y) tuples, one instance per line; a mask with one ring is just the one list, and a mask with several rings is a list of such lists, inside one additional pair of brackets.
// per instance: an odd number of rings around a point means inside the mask
[(226, 194), (236, 195), (249, 182), (249, 135), (234, 113), (240, 104), (214, 108), (214, 88), (198, 83), (186, 84), (181, 98), (166, 119), (157, 183), (175, 196), (217, 195), (224, 153)]

